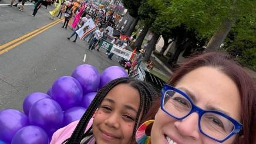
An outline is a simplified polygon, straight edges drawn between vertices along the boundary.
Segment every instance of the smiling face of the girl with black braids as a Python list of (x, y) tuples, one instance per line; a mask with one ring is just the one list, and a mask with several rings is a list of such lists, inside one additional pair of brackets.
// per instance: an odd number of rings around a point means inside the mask
[(128, 84), (118, 84), (106, 95), (93, 120), (96, 143), (128, 144), (140, 105), (140, 94)]

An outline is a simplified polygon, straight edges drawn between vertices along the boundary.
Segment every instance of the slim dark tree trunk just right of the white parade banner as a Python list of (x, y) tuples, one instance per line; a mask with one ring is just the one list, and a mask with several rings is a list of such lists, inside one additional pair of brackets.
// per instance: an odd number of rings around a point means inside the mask
[(144, 59), (146, 61), (150, 60), (151, 53), (155, 49), (156, 43), (157, 43), (157, 40), (159, 39), (159, 37), (160, 37), (160, 35), (154, 34), (152, 39), (150, 40), (149, 44), (147, 44), (147, 46), (145, 48), (146, 52), (145, 52), (145, 57), (144, 57)]

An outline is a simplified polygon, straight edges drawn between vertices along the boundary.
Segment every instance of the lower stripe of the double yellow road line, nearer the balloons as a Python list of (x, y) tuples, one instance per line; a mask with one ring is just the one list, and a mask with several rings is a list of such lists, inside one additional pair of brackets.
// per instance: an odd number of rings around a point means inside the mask
[(15, 44), (13, 44), (12, 46), (7, 47), (6, 49), (0, 51), (0, 55), (3, 54), (3, 53), (5, 53), (5, 52), (8, 52), (8, 50), (11, 50), (12, 48), (18, 46), (19, 44), (21, 44), (21, 43), (23, 43), (23, 42), (26, 42), (27, 40), (31, 39), (32, 37), (35, 37), (35, 36), (39, 35), (40, 33), (42, 33), (42, 32), (44, 32), (45, 30), (51, 28), (52, 26), (57, 25), (59, 22), (61, 22), (61, 20), (56, 20), (55, 23), (53, 23), (52, 25), (48, 26), (47, 28), (41, 29), (41, 31), (39, 31), (39, 32), (37, 32), (37, 33), (34, 33), (34, 34), (31, 35), (31, 36), (25, 37), (25, 39), (22, 39), (22, 40), (19, 41), (18, 43), (15, 43)]

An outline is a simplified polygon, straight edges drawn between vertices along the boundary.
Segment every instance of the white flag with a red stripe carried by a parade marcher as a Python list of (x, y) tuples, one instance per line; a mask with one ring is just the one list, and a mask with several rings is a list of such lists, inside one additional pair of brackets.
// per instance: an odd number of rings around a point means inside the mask
[(85, 40), (90, 33), (95, 31), (95, 27), (95, 23), (93, 22), (92, 18), (90, 18), (80, 29), (76, 30), (76, 33), (78, 33), (81, 40)]

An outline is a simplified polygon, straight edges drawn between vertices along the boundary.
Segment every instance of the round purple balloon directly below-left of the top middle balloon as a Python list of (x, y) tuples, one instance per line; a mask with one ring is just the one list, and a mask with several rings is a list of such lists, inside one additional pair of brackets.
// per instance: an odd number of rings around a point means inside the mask
[(83, 90), (78, 80), (70, 76), (63, 76), (53, 83), (52, 98), (65, 111), (80, 105), (83, 98)]

